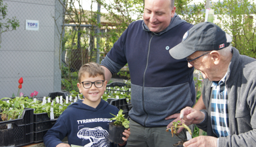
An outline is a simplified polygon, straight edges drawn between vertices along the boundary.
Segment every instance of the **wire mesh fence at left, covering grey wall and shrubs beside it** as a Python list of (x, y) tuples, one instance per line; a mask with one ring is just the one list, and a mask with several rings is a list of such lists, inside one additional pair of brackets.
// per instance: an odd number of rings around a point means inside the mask
[[(3, 0), (7, 19), (16, 19), (16, 30), (3, 32), (0, 47), (0, 98), (19, 96), (18, 80), (24, 83), (20, 92), (38, 97), (50, 92), (71, 91), (76, 86), (81, 65), (97, 61), (97, 27), (72, 24), (59, 0)], [(65, 16), (63, 14), (66, 14)], [(95, 14), (97, 15), (97, 14)], [(64, 21), (65, 20), (65, 21)], [(34, 28), (28, 29), (29, 25)], [(104, 43), (107, 32), (101, 28), (99, 40)], [(101, 53), (100, 61), (106, 53)]]

